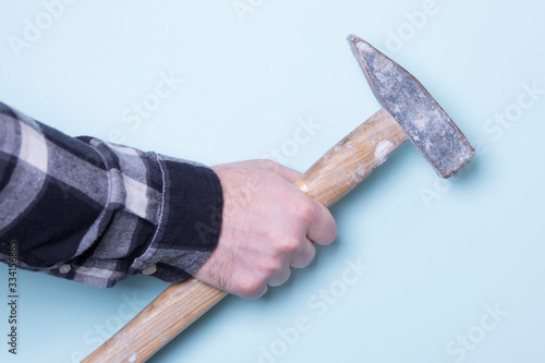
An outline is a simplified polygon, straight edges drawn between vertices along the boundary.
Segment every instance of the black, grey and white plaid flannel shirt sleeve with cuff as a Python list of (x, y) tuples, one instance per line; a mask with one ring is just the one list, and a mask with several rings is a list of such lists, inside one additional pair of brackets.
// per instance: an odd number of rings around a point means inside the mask
[(19, 267), (92, 286), (180, 281), (214, 251), (222, 205), (208, 167), (73, 138), (0, 104), (2, 262), (16, 244)]

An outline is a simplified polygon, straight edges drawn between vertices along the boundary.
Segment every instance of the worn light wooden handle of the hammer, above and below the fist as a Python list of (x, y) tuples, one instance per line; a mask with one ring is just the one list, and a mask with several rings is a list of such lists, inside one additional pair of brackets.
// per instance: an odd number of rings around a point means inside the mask
[[(405, 132), (382, 109), (329, 149), (295, 185), (330, 206), (404, 141)], [(172, 283), (83, 362), (145, 362), (226, 295), (194, 278)]]

